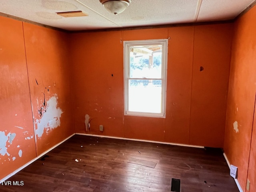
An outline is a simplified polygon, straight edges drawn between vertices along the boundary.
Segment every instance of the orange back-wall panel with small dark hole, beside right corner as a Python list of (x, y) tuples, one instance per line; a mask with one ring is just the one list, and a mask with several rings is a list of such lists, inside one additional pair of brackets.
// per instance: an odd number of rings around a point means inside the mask
[(223, 147), (231, 41), (232, 25), (195, 28), (190, 144)]

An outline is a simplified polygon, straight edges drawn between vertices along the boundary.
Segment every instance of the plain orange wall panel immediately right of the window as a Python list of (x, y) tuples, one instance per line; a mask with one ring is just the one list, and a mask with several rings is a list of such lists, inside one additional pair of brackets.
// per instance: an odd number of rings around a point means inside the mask
[(194, 26), (168, 29), (165, 141), (189, 144)]

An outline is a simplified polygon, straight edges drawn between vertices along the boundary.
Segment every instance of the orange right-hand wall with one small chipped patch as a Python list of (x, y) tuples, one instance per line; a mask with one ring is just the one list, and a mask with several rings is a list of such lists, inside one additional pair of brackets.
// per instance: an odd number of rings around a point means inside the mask
[[(224, 140), (224, 152), (230, 164), (238, 167), (240, 185), (246, 191), (248, 174), (252, 192), (256, 188), (255, 140), (252, 140), (256, 136), (255, 129), (252, 130), (256, 93), (255, 18), (254, 6), (235, 22)], [(238, 124), (238, 132), (234, 130), (234, 122)]]

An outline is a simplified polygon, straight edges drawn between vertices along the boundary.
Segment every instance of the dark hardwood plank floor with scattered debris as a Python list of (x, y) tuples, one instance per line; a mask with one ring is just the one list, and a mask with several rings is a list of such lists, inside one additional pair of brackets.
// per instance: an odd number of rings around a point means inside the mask
[[(12, 186), (0, 191), (170, 192), (172, 178), (180, 179), (180, 192), (239, 192), (221, 152), (81, 135), (9, 178)], [(23, 185), (14, 186), (17, 181)]]

